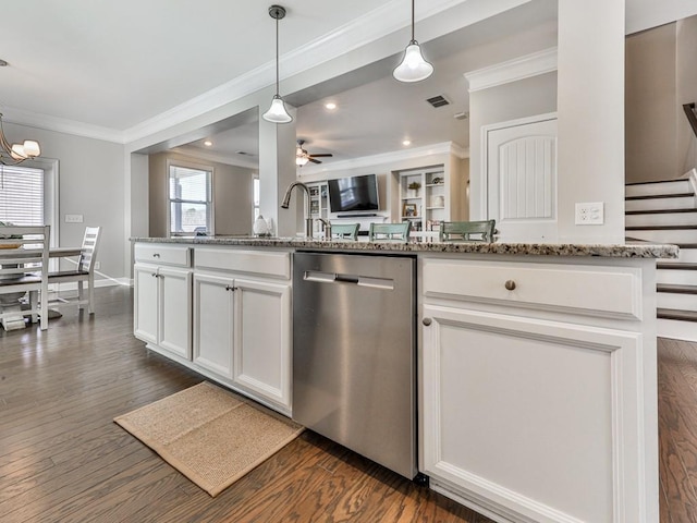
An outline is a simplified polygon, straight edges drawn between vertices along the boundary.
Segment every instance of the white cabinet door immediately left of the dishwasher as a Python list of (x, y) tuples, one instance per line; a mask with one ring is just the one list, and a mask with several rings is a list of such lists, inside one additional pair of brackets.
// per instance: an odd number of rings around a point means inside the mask
[(235, 279), (234, 382), (291, 404), (291, 288)]

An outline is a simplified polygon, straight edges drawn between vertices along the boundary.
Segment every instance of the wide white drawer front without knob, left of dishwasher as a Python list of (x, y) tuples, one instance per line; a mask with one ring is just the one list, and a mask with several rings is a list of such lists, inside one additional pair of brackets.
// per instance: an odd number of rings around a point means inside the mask
[(273, 278), (291, 278), (291, 254), (265, 251), (196, 247), (197, 269), (229, 270)]

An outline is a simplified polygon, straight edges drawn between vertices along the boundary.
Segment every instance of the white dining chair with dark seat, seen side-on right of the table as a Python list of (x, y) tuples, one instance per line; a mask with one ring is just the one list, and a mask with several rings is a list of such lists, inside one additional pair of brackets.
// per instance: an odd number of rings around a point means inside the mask
[[(95, 313), (95, 260), (97, 258), (97, 247), (99, 246), (100, 230), (101, 228), (99, 227), (85, 228), (83, 246), (75, 269), (48, 273), (49, 283), (69, 283), (73, 281), (77, 282), (77, 300), (65, 300), (59, 297), (56, 301), (51, 301), (51, 307), (77, 305), (80, 308), (84, 308), (83, 305), (86, 304), (87, 312), (89, 314)], [(85, 297), (83, 289), (84, 282), (87, 282), (87, 297)]]

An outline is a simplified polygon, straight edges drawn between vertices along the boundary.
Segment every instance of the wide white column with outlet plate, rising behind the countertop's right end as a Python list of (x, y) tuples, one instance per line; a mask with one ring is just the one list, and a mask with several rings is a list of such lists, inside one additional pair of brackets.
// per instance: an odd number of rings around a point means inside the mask
[[(624, 0), (559, 0), (559, 239), (624, 241)], [(576, 226), (576, 203), (604, 224)]]

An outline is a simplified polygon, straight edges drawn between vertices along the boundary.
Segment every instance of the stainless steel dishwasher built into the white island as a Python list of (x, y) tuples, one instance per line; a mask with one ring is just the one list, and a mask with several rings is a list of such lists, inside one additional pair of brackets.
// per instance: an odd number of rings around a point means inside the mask
[(409, 479), (414, 279), (406, 256), (293, 256), (293, 418)]

